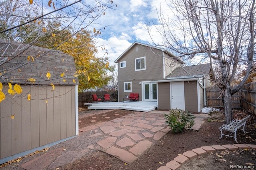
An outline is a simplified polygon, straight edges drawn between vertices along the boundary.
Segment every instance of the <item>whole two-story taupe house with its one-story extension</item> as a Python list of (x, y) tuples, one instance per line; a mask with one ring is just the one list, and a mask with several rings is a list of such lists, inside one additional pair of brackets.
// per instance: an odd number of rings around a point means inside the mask
[(156, 101), (158, 109), (200, 112), (206, 105), (210, 64), (184, 67), (170, 51), (140, 42), (134, 42), (115, 62), (118, 101), (139, 93), (139, 101)]

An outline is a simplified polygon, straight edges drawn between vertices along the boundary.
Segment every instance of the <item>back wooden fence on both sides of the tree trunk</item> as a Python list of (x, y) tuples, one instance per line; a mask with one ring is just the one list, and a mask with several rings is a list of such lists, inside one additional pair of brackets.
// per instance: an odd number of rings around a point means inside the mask
[[(241, 109), (240, 105), (240, 91), (232, 95), (232, 107), (234, 109)], [(206, 89), (206, 103), (207, 107), (224, 108), (222, 92), (219, 87), (211, 86)]]

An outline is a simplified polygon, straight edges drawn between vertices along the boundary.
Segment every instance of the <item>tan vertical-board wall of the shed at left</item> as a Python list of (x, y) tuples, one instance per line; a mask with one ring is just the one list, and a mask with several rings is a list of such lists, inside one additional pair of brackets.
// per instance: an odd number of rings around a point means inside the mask
[(75, 85), (56, 85), (54, 91), (51, 86), (22, 89), (22, 95), (6, 95), (0, 103), (1, 159), (76, 135)]

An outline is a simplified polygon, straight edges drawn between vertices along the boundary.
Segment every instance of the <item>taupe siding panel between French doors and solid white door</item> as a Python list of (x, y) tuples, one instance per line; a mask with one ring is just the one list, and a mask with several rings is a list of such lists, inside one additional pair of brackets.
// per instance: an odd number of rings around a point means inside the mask
[(158, 83), (158, 109), (170, 109), (170, 83)]

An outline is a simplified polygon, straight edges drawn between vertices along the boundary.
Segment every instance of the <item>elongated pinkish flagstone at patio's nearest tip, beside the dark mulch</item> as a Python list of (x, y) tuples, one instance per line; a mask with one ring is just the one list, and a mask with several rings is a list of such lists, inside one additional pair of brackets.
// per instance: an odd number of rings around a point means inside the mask
[(132, 162), (134, 162), (137, 159), (137, 157), (134, 156), (133, 154), (131, 154), (130, 152), (128, 152), (124, 149), (116, 148), (114, 146), (108, 148), (106, 150), (106, 153), (111, 154), (128, 164), (131, 164)]

